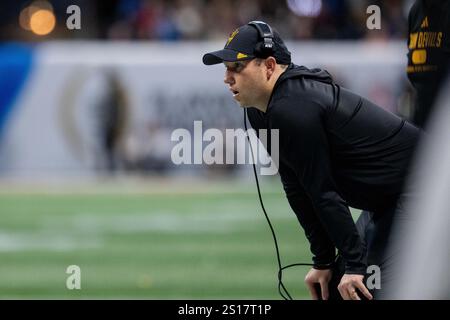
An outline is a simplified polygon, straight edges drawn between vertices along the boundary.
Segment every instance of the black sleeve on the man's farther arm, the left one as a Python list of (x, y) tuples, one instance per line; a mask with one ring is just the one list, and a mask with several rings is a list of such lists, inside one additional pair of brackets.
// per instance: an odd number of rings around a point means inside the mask
[(305, 230), (306, 238), (310, 243), (314, 268), (330, 268), (335, 258), (335, 247), (314, 212), (311, 200), (298, 183), (294, 171), (283, 162), (280, 162), (278, 171), (289, 205)]

